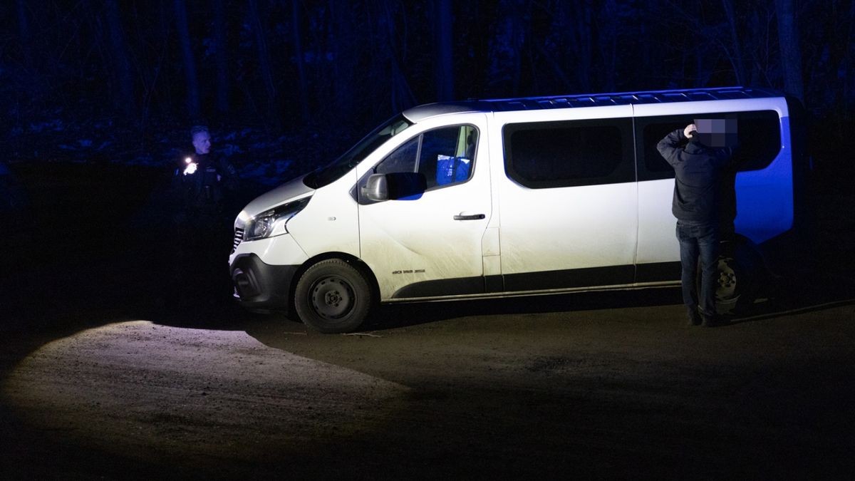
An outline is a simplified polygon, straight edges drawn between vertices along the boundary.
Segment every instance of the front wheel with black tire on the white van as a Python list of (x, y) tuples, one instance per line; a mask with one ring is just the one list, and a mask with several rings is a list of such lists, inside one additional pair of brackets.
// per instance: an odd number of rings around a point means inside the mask
[(365, 276), (345, 260), (332, 258), (312, 265), (300, 276), (294, 308), (314, 330), (351, 332), (363, 324), (372, 299)]

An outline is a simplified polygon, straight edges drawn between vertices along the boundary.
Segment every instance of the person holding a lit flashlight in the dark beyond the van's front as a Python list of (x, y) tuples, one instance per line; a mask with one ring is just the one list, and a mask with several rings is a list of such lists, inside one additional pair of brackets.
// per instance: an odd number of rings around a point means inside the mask
[(231, 246), (231, 219), (227, 205), (238, 189), (234, 166), (211, 153), (209, 129), (190, 130), (193, 152), (182, 156), (172, 175), (174, 241), (179, 243), (180, 262), (174, 282), (192, 284), (223, 275), (220, 268)]

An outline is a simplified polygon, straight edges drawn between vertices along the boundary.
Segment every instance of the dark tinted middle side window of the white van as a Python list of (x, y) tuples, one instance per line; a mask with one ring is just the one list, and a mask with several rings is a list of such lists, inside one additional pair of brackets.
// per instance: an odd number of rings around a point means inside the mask
[(529, 188), (635, 181), (632, 119), (508, 124), (508, 176)]

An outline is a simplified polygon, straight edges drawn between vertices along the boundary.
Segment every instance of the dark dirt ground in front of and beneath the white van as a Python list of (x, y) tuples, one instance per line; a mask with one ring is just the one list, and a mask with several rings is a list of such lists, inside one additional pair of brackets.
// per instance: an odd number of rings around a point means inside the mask
[(4, 478), (853, 472), (851, 302), (702, 329), (673, 292), (605, 295), (392, 306), (358, 336), (197, 306), (218, 328), (4, 342)]

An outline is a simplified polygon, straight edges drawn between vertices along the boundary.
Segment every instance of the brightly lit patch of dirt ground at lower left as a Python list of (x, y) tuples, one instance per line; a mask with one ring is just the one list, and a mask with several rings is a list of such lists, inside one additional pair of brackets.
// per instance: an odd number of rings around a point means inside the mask
[(407, 392), (242, 331), (147, 321), (50, 342), (3, 386), (10, 404), (49, 436), (132, 455), (175, 449), (230, 458), (379, 429)]

